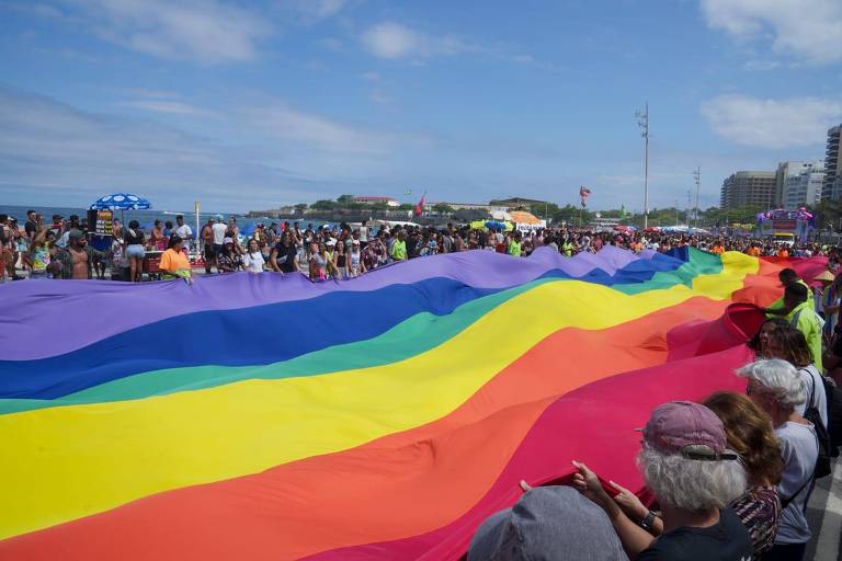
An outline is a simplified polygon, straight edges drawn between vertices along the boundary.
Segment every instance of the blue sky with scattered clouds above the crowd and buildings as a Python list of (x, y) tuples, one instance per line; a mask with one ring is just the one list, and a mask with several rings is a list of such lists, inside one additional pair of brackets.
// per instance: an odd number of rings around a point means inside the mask
[[(839, 0), (0, 0), (0, 202), (702, 205), (823, 159)], [(410, 197), (403, 196), (407, 188)]]

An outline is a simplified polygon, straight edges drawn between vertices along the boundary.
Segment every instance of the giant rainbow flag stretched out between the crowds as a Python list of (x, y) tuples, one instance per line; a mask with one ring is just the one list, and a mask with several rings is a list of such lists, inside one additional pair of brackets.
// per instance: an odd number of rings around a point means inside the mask
[(458, 559), (571, 459), (640, 489), (633, 428), (741, 389), (781, 266), (474, 251), (0, 286), (0, 559)]

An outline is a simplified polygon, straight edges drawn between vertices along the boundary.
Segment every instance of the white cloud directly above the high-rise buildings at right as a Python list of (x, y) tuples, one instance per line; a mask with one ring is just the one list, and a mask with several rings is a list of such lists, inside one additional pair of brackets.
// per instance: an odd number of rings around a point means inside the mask
[(717, 135), (739, 145), (771, 149), (821, 146), (828, 128), (842, 119), (842, 101), (720, 95), (705, 102), (702, 114)]

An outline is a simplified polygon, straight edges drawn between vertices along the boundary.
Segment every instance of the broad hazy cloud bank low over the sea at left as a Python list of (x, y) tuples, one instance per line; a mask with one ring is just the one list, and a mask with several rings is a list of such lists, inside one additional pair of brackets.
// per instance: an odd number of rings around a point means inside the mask
[(129, 191), (170, 208), (195, 197), (207, 208), (269, 208), (354, 192), (349, 184), (369, 183), (410, 141), (280, 104), (249, 111), (218, 116), (217, 138), (206, 138), (0, 87), (2, 191), (22, 204), (83, 205)]

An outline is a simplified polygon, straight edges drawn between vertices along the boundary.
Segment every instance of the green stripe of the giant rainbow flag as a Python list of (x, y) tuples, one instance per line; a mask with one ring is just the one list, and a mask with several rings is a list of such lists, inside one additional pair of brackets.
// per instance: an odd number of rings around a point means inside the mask
[[(675, 271), (659, 272), (646, 283), (614, 285), (613, 288), (635, 295), (645, 290), (667, 289), (679, 284), (690, 286), (693, 278), (698, 275), (718, 274), (721, 271), (722, 265), (718, 256), (692, 251), (690, 262)], [(280, 363), (259, 366), (207, 365), (153, 370), (112, 380), (54, 400), (0, 400), (0, 414), (52, 407), (144, 399), (179, 391), (213, 388), (247, 379), (317, 376), (397, 363), (441, 345), (492, 309), (521, 294), (547, 283), (568, 280), (559, 278), (533, 280), (466, 302), (447, 316), (418, 313), (376, 337), (323, 348)]]

